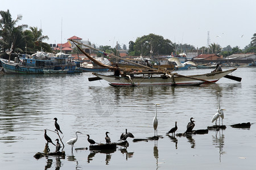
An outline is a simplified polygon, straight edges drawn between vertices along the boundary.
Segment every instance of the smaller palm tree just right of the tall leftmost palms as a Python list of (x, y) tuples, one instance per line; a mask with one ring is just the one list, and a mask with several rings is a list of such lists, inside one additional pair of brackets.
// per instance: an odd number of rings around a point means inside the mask
[(30, 27), (30, 29), (34, 36), (34, 48), (39, 51), (42, 48), (43, 50), (46, 50), (46, 52), (52, 52), (51, 46), (46, 42), (43, 42), (43, 40), (48, 40), (49, 37), (42, 35), (42, 29), (38, 29), (38, 27)]

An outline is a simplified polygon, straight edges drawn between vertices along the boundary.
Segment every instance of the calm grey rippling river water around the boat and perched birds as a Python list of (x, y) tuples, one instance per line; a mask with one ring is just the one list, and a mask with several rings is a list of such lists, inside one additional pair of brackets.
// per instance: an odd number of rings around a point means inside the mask
[[(224, 70), (226, 68), (223, 68)], [(208, 69), (179, 71), (192, 75)], [(241, 67), (232, 73), (242, 82), (222, 78), (216, 84), (188, 87), (112, 87), (104, 80), (88, 82), (91, 73), (66, 75), (0, 75), (1, 169), (253, 169), (256, 160), (256, 125), (235, 129), (232, 124), (256, 122), (256, 67)], [(176, 133), (184, 133), (189, 118), (195, 128), (212, 126), (218, 95), (224, 111), (225, 130), (191, 137), (166, 135), (177, 121)], [(89, 148), (86, 134), (105, 143), (128, 131), (135, 138), (154, 136), (152, 120), (158, 106), (158, 141), (133, 142), (110, 154), (75, 150)], [(57, 117), (63, 131), (65, 158), (43, 152), (44, 129), (55, 130)], [(71, 146), (67, 142), (78, 140)], [(47, 133), (55, 142), (57, 135)], [(51, 151), (55, 147), (49, 144)]]

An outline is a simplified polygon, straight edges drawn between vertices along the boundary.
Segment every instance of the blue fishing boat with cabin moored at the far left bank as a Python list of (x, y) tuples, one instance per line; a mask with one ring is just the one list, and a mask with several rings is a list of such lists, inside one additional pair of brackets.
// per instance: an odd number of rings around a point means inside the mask
[(43, 56), (22, 56), (21, 61), (15, 58), (15, 61), (0, 58), (6, 74), (44, 74), (44, 69), (53, 70), (52, 59)]

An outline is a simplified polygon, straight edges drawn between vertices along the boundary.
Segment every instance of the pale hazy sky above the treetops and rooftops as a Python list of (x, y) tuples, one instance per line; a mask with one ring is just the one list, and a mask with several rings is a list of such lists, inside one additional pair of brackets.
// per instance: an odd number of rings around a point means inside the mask
[[(256, 33), (255, 0), (1, 0), (18, 23), (42, 28), (48, 44), (65, 43), (72, 36), (96, 46), (129, 46), (150, 33), (176, 44), (196, 48), (219, 44), (240, 49)], [(0, 16), (1, 17), (1, 16)], [(62, 39), (61, 39), (62, 38)]]

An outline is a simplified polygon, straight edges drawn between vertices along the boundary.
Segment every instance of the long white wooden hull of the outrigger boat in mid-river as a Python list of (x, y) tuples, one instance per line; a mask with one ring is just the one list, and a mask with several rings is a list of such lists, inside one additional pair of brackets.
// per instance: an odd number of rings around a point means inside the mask
[(111, 86), (195, 86), (203, 83), (215, 83), (235, 70), (237, 70), (237, 68), (200, 75), (167, 74), (157, 71), (129, 73), (122, 76), (93, 74), (96, 75), (98, 79), (106, 80)]

